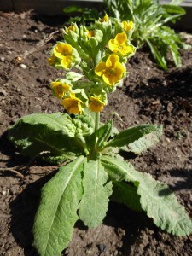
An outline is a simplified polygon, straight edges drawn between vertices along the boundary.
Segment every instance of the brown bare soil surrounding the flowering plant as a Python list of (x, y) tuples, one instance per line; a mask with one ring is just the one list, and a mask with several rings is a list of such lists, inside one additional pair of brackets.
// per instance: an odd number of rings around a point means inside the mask
[[(45, 38), (61, 28), (63, 21), (63, 17), (46, 18), (31, 13), (0, 15), (1, 255), (37, 255), (32, 248), (31, 230), (39, 190), (57, 166), (38, 160), (30, 162), (20, 156), (7, 140), (6, 130), (23, 115), (62, 110), (49, 89), (50, 81), (60, 77), (61, 71), (46, 62), (49, 49), (61, 34), (55, 33), (46, 44)], [(189, 34), (183, 36), (192, 44)], [(124, 86), (109, 96), (102, 119), (113, 118), (120, 129), (143, 123), (164, 125), (160, 143), (130, 161), (137, 170), (169, 184), (191, 216), (192, 49), (182, 50), (182, 55), (181, 68), (164, 72), (156, 67), (147, 51), (137, 51), (128, 65)], [(15, 61), (18, 56), (22, 63), (18, 58)], [(111, 202), (98, 228), (87, 230), (81, 223), (76, 225), (73, 240), (63, 255), (189, 256), (191, 237), (166, 234), (144, 212), (132, 212)]]

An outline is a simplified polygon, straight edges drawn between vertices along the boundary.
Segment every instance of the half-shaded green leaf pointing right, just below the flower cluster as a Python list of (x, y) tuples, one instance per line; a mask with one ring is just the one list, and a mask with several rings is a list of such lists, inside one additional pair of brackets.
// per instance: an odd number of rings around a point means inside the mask
[(140, 154), (154, 143), (159, 141), (162, 135), (161, 125), (137, 125), (121, 131), (104, 148), (123, 147), (128, 145), (131, 152)]

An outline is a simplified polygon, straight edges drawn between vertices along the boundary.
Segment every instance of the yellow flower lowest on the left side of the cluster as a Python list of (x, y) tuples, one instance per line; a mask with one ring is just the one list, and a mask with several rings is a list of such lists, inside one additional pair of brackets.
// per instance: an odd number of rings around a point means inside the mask
[(64, 108), (67, 109), (68, 113), (82, 113), (82, 104), (83, 102), (75, 96), (74, 93), (70, 93), (70, 98), (64, 99), (61, 104)]

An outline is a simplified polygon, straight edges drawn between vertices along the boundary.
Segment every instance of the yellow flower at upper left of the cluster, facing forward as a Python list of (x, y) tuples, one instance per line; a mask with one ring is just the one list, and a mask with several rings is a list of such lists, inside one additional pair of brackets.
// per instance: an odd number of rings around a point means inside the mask
[(61, 65), (69, 68), (73, 61), (73, 48), (70, 44), (58, 43), (53, 49), (54, 55), (61, 59)]

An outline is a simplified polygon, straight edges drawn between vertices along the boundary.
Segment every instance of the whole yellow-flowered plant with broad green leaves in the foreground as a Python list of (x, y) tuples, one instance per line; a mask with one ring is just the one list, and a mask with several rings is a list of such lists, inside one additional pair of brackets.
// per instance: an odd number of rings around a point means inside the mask
[[(51, 83), (65, 113), (32, 113), (9, 129), (21, 154), (63, 163), (42, 189), (33, 234), (39, 255), (59, 256), (73, 236), (77, 220), (89, 228), (102, 224), (109, 199), (147, 213), (154, 224), (177, 236), (192, 230), (184, 207), (172, 190), (148, 173), (138, 172), (120, 155), (141, 154), (157, 143), (161, 125), (137, 125), (125, 131), (113, 121), (100, 122), (100, 112), (126, 76), (126, 62), (135, 54), (134, 23), (112, 22), (105, 15), (95, 29), (75, 23), (63, 29), (49, 65), (66, 70)], [(73, 69), (73, 70), (72, 70)]]

